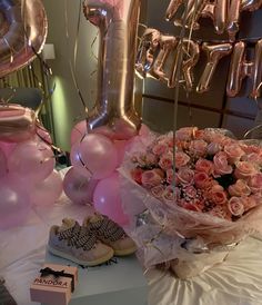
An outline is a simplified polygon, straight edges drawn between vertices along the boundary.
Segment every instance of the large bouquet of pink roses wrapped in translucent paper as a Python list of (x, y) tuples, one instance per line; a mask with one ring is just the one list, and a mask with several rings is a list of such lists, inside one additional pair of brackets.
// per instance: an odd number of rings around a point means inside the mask
[(220, 129), (152, 137), (133, 148), (120, 173), (131, 219), (125, 229), (148, 267), (181, 257), (184, 242), (198, 240), (203, 253), (262, 232), (262, 148)]

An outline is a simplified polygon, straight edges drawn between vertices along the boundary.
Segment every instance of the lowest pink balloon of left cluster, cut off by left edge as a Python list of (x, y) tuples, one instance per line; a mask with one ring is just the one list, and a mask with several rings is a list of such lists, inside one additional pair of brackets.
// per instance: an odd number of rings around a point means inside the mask
[(27, 218), (30, 200), (22, 186), (10, 179), (0, 180), (0, 229), (20, 225)]

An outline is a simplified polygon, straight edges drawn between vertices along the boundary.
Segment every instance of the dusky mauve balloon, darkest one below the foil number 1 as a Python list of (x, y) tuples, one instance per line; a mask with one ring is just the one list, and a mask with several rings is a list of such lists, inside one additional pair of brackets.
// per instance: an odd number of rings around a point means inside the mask
[(73, 167), (69, 169), (63, 178), (63, 190), (75, 204), (84, 205), (92, 203), (93, 190), (98, 180), (82, 176)]

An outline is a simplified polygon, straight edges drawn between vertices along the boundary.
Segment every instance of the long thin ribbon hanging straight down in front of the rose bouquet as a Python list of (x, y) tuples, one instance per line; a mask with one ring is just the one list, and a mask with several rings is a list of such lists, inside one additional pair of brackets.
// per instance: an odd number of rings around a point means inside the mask
[(185, 2), (185, 12), (184, 18), (182, 22), (182, 28), (179, 36), (179, 46), (177, 50), (177, 58), (175, 58), (175, 76), (174, 76), (174, 109), (173, 109), (173, 178), (172, 178), (172, 185), (173, 185), (173, 198), (175, 200), (175, 131), (178, 129), (178, 110), (179, 110), (179, 87), (180, 87), (180, 75), (181, 75), (181, 68), (182, 68), (182, 47), (183, 47), (183, 40), (185, 35), (185, 22), (189, 12), (189, 3)]

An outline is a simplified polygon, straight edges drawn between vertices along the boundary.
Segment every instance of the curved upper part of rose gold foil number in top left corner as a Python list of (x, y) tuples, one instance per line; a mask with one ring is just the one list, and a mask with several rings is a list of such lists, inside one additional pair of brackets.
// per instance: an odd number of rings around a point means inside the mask
[(34, 59), (46, 41), (47, 28), (41, 0), (0, 1), (0, 78)]

